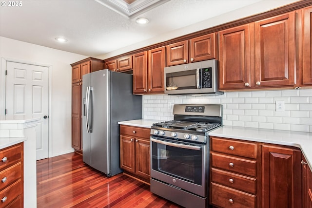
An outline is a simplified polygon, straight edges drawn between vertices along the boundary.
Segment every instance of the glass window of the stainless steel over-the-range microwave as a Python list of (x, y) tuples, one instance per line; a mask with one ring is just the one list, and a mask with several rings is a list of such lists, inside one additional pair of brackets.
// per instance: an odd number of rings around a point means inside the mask
[(174, 83), (179, 90), (197, 89), (196, 70), (173, 72), (166, 74), (166, 86)]

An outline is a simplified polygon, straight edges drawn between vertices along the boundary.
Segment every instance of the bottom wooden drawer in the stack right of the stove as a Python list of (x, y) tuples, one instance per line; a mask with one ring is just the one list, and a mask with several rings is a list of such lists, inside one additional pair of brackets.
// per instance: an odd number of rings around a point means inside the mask
[(211, 203), (222, 208), (255, 208), (255, 196), (211, 183)]

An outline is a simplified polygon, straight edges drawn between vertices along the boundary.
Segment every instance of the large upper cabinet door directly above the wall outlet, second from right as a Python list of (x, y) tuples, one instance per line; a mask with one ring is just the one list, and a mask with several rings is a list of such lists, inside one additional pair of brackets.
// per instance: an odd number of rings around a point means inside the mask
[(254, 23), (255, 87), (295, 84), (294, 12)]

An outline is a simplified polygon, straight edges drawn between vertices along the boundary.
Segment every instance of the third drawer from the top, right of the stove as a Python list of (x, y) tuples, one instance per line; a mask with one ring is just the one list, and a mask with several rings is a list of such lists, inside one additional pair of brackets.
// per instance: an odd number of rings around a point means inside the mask
[(256, 179), (212, 168), (212, 182), (249, 193), (256, 193)]

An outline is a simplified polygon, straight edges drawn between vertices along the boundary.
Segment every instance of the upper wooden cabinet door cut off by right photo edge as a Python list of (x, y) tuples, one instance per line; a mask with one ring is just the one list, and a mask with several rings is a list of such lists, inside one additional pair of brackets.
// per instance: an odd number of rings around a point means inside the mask
[(312, 84), (312, 7), (303, 10), (302, 84)]

